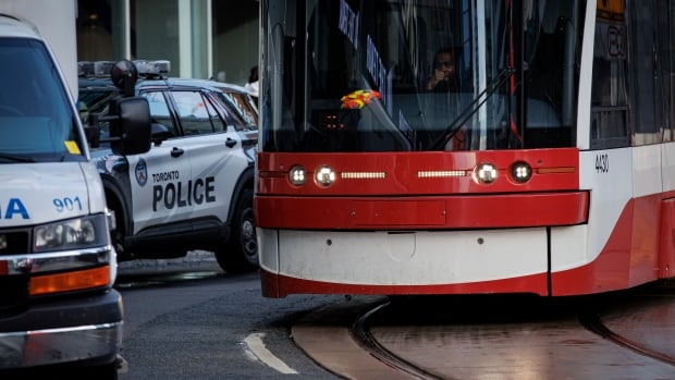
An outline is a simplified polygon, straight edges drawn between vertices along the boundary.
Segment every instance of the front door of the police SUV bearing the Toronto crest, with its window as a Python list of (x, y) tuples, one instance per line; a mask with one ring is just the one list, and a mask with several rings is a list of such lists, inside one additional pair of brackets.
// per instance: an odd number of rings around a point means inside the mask
[(175, 137), (152, 144), (145, 155), (130, 157), (134, 234), (184, 220), (192, 212), (189, 157), (171, 118), (162, 91), (142, 93), (148, 99), (154, 123), (164, 125)]

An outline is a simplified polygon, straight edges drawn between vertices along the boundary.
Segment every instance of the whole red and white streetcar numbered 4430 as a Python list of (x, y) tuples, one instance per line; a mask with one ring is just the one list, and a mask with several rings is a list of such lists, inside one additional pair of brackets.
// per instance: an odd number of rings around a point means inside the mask
[(675, 1), (260, 7), (263, 296), (675, 275)]

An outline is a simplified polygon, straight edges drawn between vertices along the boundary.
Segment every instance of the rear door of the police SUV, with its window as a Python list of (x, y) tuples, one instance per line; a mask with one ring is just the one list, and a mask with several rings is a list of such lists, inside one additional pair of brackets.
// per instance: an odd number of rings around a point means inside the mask
[(204, 89), (172, 90), (192, 164), (193, 218), (228, 218), (234, 188), (247, 167), (238, 134), (228, 130)]

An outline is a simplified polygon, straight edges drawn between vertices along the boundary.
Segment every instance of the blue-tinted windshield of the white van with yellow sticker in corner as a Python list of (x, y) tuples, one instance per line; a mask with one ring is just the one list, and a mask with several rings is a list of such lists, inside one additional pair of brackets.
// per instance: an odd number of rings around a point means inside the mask
[(0, 38), (0, 162), (84, 159), (76, 115), (41, 42)]

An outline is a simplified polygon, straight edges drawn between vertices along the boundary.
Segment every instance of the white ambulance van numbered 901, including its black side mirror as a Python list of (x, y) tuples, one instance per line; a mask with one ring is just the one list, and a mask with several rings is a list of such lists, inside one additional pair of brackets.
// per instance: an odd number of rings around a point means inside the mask
[[(36, 368), (118, 377), (123, 308), (75, 108), (75, 0), (0, 1), (0, 379)], [(147, 151), (147, 100), (112, 106), (114, 149)]]

